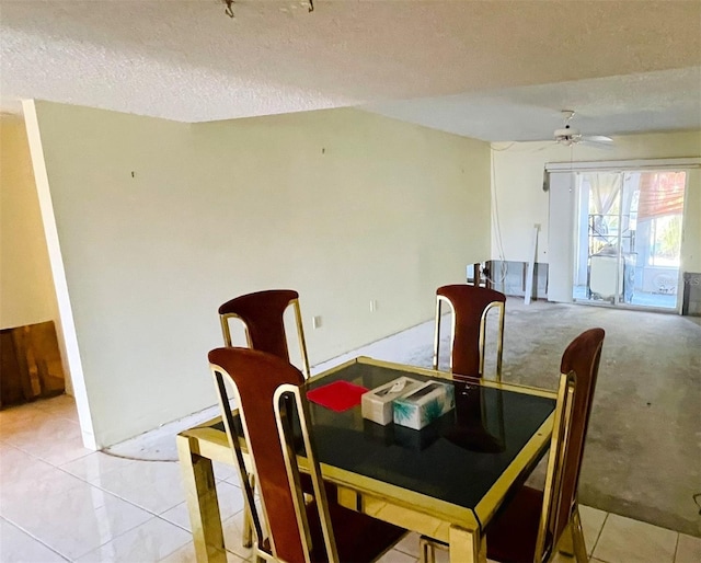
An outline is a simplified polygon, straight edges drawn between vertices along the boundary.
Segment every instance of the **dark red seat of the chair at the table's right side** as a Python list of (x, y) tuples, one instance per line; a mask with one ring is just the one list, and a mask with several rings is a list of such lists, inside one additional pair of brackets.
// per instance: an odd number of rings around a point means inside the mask
[(499, 563), (533, 561), (543, 492), (522, 486), (486, 529), (487, 558)]

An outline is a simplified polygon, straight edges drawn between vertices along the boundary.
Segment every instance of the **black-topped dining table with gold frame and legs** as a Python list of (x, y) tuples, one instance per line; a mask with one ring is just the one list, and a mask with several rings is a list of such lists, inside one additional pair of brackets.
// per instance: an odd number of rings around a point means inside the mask
[[(322, 476), (342, 506), (444, 542), (451, 563), (484, 563), (490, 521), (548, 450), (556, 394), (357, 357), (308, 379), (302, 397), (338, 381), (372, 390), (401, 377), (453, 386), (455, 409), (413, 429), (365, 418), (359, 401), (338, 411), (309, 400)], [(176, 439), (197, 561), (226, 562), (212, 461), (235, 461), (221, 418)]]

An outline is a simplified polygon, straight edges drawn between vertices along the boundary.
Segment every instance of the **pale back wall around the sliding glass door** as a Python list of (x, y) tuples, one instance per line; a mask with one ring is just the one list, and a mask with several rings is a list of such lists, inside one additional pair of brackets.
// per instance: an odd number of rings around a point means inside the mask
[[(493, 175), (498, 225), (505, 260), (530, 260), (531, 233), (541, 225), (538, 261), (548, 262), (549, 194), (543, 192), (543, 169), (548, 162), (663, 159), (701, 156), (701, 131), (659, 133), (616, 137), (612, 150), (582, 145), (563, 147), (554, 142), (493, 145)], [(689, 176), (682, 268), (701, 271), (701, 179)], [(492, 229), (492, 257), (499, 257), (496, 223)]]

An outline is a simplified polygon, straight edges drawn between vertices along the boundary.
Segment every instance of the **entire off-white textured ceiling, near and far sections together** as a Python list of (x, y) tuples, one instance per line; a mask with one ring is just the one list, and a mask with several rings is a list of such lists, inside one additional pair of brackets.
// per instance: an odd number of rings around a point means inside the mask
[(498, 140), (547, 137), (563, 106), (597, 134), (699, 126), (699, 0), (314, 4), (0, 0), (0, 101), (183, 122), (370, 104)]

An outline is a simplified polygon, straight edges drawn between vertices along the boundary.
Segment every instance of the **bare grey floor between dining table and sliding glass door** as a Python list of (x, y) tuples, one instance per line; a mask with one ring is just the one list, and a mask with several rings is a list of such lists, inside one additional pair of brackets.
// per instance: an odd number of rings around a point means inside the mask
[[(594, 326), (606, 340), (579, 501), (701, 537), (701, 318), (509, 298), (503, 380), (556, 389), (562, 353)], [(430, 367), (433, 323), (357, 353)]]

